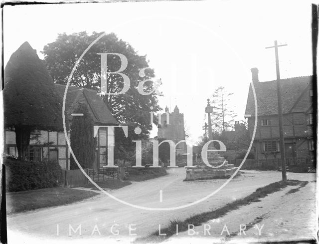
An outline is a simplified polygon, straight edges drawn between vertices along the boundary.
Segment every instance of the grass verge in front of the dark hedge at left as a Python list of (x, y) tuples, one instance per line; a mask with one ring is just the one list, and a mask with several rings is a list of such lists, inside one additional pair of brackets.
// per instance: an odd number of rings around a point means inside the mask
[(60, 206), (99, 195), (95, 192), (70, 188), (43, 188), (6, 194), (7, 214)]

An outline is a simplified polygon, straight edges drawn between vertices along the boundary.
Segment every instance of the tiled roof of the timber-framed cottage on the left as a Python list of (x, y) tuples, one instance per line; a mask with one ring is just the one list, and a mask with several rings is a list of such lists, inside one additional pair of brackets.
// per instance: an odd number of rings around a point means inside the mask
[[(63, 100), (65, 85), (55, 84), (61, 99)], [(95, 90), (69, 86), (66, 94), (65, 110), (69, 120), (72, 120), (71, 114), (76, 110), (79, 103), (89, 105), (89, 113), (96, 124), (117, 125), (119, 124), (101, 97)]]

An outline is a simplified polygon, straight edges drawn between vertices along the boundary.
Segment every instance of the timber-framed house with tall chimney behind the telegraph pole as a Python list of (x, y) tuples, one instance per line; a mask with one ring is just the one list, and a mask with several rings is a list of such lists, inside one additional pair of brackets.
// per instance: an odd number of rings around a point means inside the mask
[[(258, 69), (251, 71), (258, 106), (255, 158), (280, 158), (276, 80), (259, 82)], [(286, 158), (314, 157), (312, 82), (313, 76), (280, 80)], [(256, 114), (251, 85), (245, 117), (252, 137)]]

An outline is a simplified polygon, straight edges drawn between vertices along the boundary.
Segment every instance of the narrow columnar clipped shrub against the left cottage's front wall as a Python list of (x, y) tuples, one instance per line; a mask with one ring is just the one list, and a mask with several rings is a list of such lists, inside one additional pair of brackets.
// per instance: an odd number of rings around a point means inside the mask
[[(82, 168), (91, 169), (97, 145), (93, 135), (93, 119), (86, 104), (80, 104), (75, 113), (81, 113), (83, 116), (73, 117), (70, 133), (71, 148)], [(70, 169), (78, 169), (73, 157), (70, 159)]]

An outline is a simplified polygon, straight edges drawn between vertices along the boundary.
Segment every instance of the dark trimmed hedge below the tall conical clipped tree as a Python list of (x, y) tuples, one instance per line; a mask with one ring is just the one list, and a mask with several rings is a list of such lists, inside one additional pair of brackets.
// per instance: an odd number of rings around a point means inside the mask
[(62, 170), (56, 161), (28, 162), (6, 159), (4, 165), (7, 192), (56, 187), (62, 183)]

